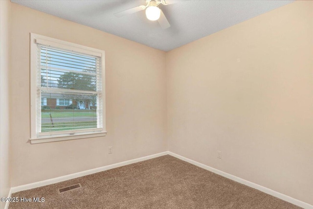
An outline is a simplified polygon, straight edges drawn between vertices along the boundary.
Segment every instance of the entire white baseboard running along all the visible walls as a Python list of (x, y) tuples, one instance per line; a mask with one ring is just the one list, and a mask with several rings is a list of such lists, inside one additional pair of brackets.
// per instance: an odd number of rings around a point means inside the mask
[[(211, 171), (213, 173), (216, 173), (218, 175), (224, 176), (227, 179), (231, 179), (231, 180), (233, 180), (235, 182), (238, 182), (238, 183), (241, 183), (243, 185), (250, 186), (252, 188), (255, 188), (255, 189), (258, 189), (260, 191), (263, 191), (263, 192), (265, 192), (265, 193), (267, 193), (269, 195), (272, 195), (274, 197), (277, 197), (279, 199), (287, 201), (287, 202), (289, 202), (289, 203), (291, 203), (293, 205), (299, 206), (301, 208), (313, 209), (313, 206), (308, 204), (308, 203), (305, 203), (305, 202), (302, 202), (300, 200), (294, 199), (294, 198), (292, 198), (290, 196), (287, 196), (285, 194), (282, 194), (282, 193), (279, 193), (277, 191), (271, 190), (271, 189), (269, 189), (267, 187), (254, 184), (252, 182), (249, 182), (247, 180), (241, 179), (241, 178), (239, 178), (237, 176), (234, 176), (234, 175), (231, 175), (229, 173), (225, 173), (225, 172), (223, 172), (221, 170), (215, 169), (215, 168), (210, 167), (208, 165), (205, 165), (205, 164), (193, 161), (191, 159), (182, 157), (182, 156), (180, 156), (178, 154), (175, 154), (173, 152), (170, 152), (170, 151), (161, 152), (161, 153), (157, 153), (155, 155), (149, 155), (149, 156), (142, 157), (142, 158), (136, 158), (136, 159), (129, 160), (129, 161), (124, 161), (124, 162), (121, 162), (121, 163), (115, 163), (115, 164), (111, 164), (111, 165), (106, 165), (106, 166), (103, 166), (103, 167), (94, 168), (94, 169), (90, 169), (90, 170), (86, 170), (86, 171), (82, 171), (82, 172), (78, 172), (78, 173), (73, 173), (73, 174), (69, 174), (69, 175), (66, 175), (66, 176), (61, 176), (61, 177), (57, 177), (57, 178), (53, 178), (53, 179), (48, 179), (48, 180), (41, 181), (41, 182), (35, 182), (35, 183), (22, 185), (22, 186), (15, 186), (15, 187), (12, 187), (10, 189), (8, 197), (11, 197), (12, 193), (15, 193), (15, 192), (18, 192), (18, 191), (23, 191), (23, 190), (27, 190), (27, 189), (37, 188), (37, 187), (40, 187), (40, 186), (47, 186), (47, 185), (51, 185), (51, 184), (67, 181), (67, 180), (70, 180), (70, 179), (75, 179), (75, 178), (78, 178), (78, 177), (86, 176), (86, 175), (89, 175), (89, 174), (98, 173), (98, 172), (105, 171), (105, 170), (110, 170), (112, 168), (121, 167), (121, 166), (124, 166), (124, 165), (132, 164), (132, 163), (138, 163), (138, 162), (141, 162), (141, 161), (153, 159), (153, 158), (160, 157), (160, 156), (163, 156), (163, 155), (171, 155), (171, 156), (173, 156), (175, 158), (178, 158), (180, 160), (183, 160), (185, 162), (194, 164), (194, 165), (199, 166), (199, 167), (201, 167), (203, 169), (206, 169), (206, 170)], [(9, 203), (7, 202), (5, 204), (4, 209), (8, 209), (8, 207), (9, 207)]]

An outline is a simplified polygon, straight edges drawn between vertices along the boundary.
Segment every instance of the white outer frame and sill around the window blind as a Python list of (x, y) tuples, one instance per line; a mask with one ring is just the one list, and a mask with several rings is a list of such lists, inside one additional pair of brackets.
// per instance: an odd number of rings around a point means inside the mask
[[(102, 68), (102, 128), (99, 130), (86, 132), (72, 130), (71, 133), (51, 133), (49, 135), (39, 135), (37, 130), (37, 105), (38, 98), (37, 92), (40, 91), (37, 88), (37, 65), (36, 65), (36, 51), (37, 43), (45, 44), (47, 46), (58, 47), (65, 50), (76, 51), (84, 54), (90, 54), (93, 56), (101, 57), (101, 68)], [(100, 49), (91, 48), (88, 46), (82, 46), (73, 44), (66, 41), (61, 41), (54, 38), (49, 38), (43, 35), (30, 33), (30, 142), (33, 143), (44, 143), (52, 141), (63, 141), (72, 139), (85, 139), (93, 137), (106, 136), (106, 101), (105, 101), (105, 51)], [(41, 102), (40, 102), (41, 104)], [(101, 116), (100, 116), (101, 117)]]

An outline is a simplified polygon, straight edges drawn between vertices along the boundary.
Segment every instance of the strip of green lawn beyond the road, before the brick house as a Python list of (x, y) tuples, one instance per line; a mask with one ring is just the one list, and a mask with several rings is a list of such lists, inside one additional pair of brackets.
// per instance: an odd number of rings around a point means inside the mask
[(58, 110), (58, 111), (50, 111), (50, 110), (42, 110), (41, 118), (50, 118), (50, 113), (52, 118), (60, 118), (60, 117), (96, 117), (96, 110)]

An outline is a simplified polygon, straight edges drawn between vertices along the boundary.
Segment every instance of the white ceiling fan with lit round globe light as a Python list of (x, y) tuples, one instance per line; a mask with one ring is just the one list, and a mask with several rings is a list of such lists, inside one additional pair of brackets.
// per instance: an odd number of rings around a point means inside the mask
[(146, 0), (146, 5), (136, 6), (130, 9), (126, 9), (121, 12), (117, 12), (114, 15), (116, 17), (122, 17), (125, 15), (130, 15), (141, 10), (146, 10), (146, 17), (151, 21), (158, 21), (163, 29), (170, 27), (170, 23), (167, 21), (164, 13), (158, 8), (159, 4), (168, 5), (174, 3), (174, 1), (168, 2), (168, 0)]

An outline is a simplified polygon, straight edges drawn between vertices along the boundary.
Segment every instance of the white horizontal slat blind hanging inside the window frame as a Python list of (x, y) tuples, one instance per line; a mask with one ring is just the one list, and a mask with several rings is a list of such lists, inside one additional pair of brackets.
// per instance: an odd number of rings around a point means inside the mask
[(42, 44), (36, 57), (39, 135), (101, 130), (101, 57)]

